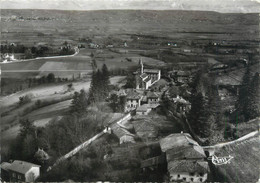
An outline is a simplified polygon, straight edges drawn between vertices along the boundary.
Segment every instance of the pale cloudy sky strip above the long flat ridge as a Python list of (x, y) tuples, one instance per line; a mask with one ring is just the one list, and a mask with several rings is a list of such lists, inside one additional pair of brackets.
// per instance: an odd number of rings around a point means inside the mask
[(202, 10), (222, 13), (260, 13), (260, 0), (0, 0), (0, 8)]

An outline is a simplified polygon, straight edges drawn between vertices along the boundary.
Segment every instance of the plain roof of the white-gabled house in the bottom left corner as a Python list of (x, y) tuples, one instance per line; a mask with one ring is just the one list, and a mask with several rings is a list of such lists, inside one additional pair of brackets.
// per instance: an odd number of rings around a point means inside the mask
[(41, 167), (40, 165), (36, 165), (33, 163), (15, 160), (9, 167), (9, 170), (25, 174), (28, 172), (32, 167)]

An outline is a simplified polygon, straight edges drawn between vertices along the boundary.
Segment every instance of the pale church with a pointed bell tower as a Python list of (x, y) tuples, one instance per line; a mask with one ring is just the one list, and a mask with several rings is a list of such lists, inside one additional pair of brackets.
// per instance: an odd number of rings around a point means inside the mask
[(140, 70), (134, 72), (136, 79), (136, 89), (147, 90), (150, 86), (161, 79), (161, 70), (144, 69), (142, 60), (139, 61)]

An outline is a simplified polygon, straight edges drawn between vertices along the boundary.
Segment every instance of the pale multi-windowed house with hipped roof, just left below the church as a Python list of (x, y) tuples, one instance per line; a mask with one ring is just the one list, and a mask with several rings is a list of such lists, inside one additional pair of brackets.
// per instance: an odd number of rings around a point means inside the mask
[(130, 91), (126, 96), (126, 111), (135, 110), (141, 105), (142, 95), (136, 91)]

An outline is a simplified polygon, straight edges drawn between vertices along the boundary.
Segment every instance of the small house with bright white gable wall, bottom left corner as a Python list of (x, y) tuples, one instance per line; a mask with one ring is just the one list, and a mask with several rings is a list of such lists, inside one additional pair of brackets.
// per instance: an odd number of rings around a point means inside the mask
[(1, 164), (1, 170), (9, 173), (10, 182), (34, 182), (40, 176), (40, 167), (20, 160)]

